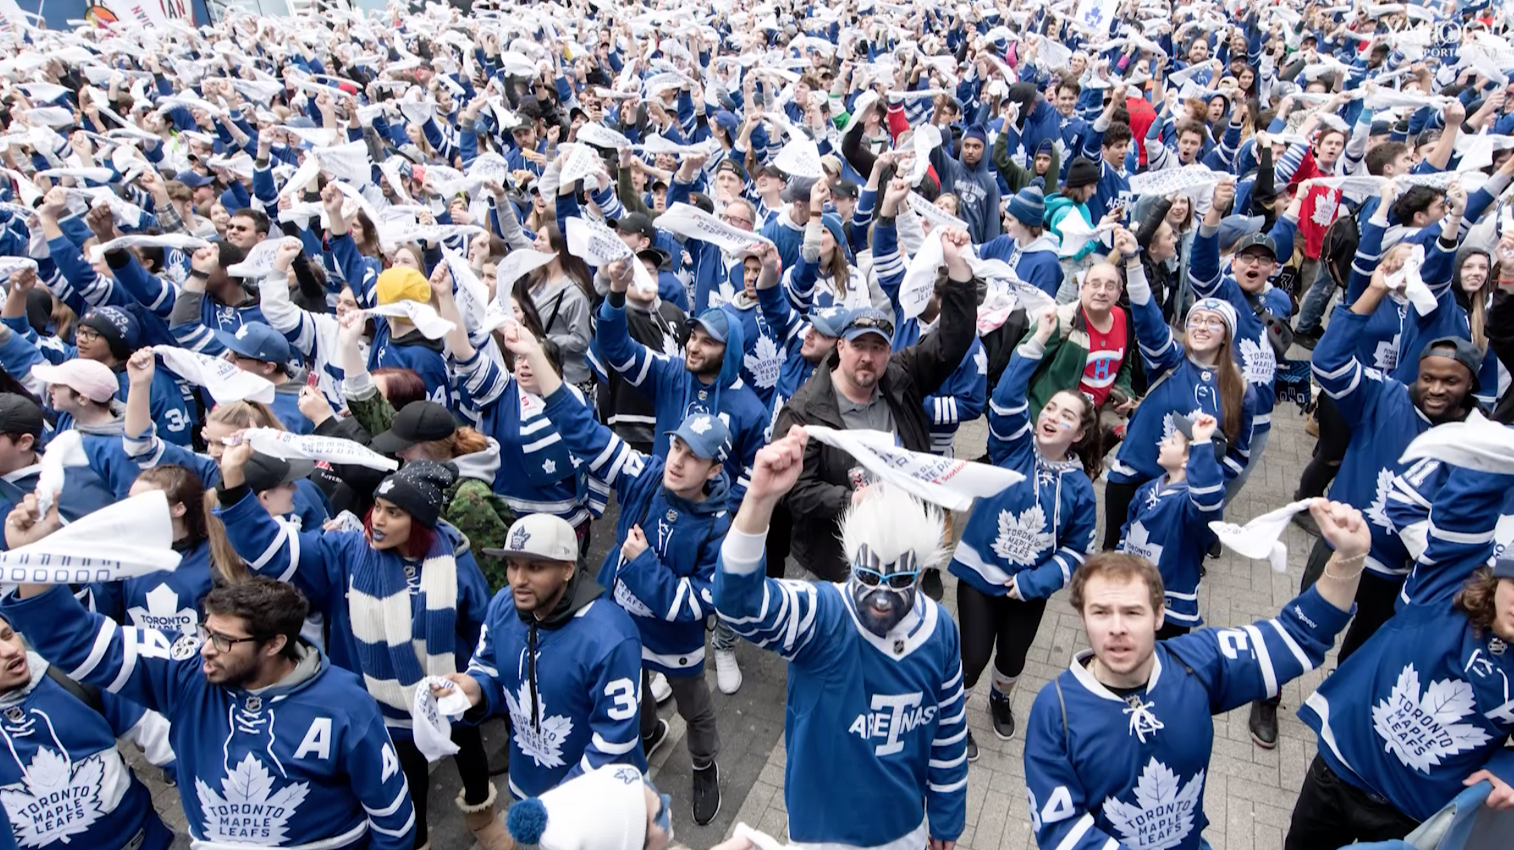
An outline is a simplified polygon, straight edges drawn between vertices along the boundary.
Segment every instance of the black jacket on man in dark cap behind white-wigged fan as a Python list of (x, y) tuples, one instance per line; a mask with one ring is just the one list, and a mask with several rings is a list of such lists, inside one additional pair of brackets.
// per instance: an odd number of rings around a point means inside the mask
[[(977, 334), (978, 281), (952, 283), (942, 295), (940, 327), (919, 345), (893, 352), (878, 380), (878, 392), (893, 411), (893, 423), (904, 448), (916, 452), (931, 449), (930, 420), (925, 396), (934, 393), (967, 355)], [(845, 428), (831, 371), (840, 365), (831, 354), (824, 369), (793, 393), (778, 413), (774, 437), (783, 437), (792, 425), (827, 425)], [(848, 558), (842, 552), (837, 520), (851, 507), (849, 470), (857, 466), (840, 449), (812, 440), (804, 449), (804, 470), (789, 492), (787, 505), (793, 514), (792, 554), (801, 567), (825, 581), (842, 581), (848, 573)]]

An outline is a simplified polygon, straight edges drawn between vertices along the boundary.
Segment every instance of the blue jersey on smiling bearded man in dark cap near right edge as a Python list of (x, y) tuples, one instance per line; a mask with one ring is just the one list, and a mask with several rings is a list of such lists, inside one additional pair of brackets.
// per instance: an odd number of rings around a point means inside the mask
[(1388, 519), (1388, 493), (1393, 476), (1408, 466), (1399, 463), (1399, 455), (1431, 428), (1431, 422), (1410, 398), (1408, 387), (1357, 360), (1357, 333), (1367, 321), (1369, 316), (1337, 307), (1329, 330), (1314, 346), (1313, 369), (1352, 434), (1329, 498), (1355, 507), (1367, 519), (1372, 529), (1367, 569), (1400, 578), (1410, 572), (1411, 561)]

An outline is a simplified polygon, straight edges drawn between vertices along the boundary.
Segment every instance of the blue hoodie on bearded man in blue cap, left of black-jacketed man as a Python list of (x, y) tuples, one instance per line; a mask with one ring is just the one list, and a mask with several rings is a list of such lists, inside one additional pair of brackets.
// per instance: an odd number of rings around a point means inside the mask
[(631, 339), (625, 330), (625, 295), (610, 293), (600, 306), (595, 342), (606, 365), (621, 374), (633, 387), (653, 399), (657, 410), (657, 440), (653, 454), (668, 457), (668, 431), (675, 430), (690, 413), (715, 413), (731, 431), (731, 454), (725, 458), (725, 473), (736, 484), (730, 504), (739, 505), (751, 479), (752, 458), (768, 443), (768, 407), (742, 378), (745, 343), (742, 325), (728, 322), (725, 355), (715, 381), (706, 384), (689, 372), (681, 360), (650, 351)]

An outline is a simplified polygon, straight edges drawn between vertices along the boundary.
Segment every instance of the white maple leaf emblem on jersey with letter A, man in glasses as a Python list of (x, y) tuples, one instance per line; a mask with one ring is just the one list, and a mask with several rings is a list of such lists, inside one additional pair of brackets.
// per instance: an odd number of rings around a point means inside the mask
[(274, 791), (274, 777), (263, 762), (247, 753), (221, 779), (217, 794), (203, 779), (194, 780), (204, 815), (206, 841), (247, 842), (257, 835), (257, 844), (277, 847), (285, 842), (289, 818), (300, 811), (310, 790), (309, 782), (291, 782)]

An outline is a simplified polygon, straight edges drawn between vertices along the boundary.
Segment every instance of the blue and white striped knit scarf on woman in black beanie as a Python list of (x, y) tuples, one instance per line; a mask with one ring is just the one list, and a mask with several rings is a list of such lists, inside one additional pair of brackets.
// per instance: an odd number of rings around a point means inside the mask
[[(451, 538), (441, 529), (421, 561), (421, 591), (413, 608), (403, 560), (372, 546), (353, 570), (347, 606), (363, 684), (385, 714), (407, 718), (422, 678), (457, 672), (457, 561)], [(416, 619), (412, 611), (424, 614)]]

